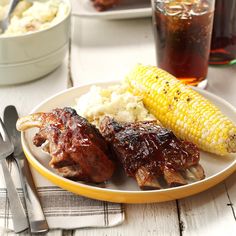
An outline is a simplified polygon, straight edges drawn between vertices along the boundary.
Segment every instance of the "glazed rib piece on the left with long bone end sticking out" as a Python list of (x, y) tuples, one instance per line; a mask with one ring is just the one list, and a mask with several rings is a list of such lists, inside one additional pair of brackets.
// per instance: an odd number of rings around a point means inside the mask
[(39, 128), (34, 145), (39, 147), (47, 141), (44, 150), (52, 157), (49, 165), (62, 176), (93, 183), (111, 178), (114, 164), (106, 141), (98, 129), (74, 109), (66, 107), (35, 113), (17, 122), (20, 131), (32, 127)]

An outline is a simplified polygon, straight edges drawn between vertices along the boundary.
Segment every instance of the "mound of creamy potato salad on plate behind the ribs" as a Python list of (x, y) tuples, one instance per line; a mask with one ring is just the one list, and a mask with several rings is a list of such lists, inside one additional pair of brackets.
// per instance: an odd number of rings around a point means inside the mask
[(102, 89), (92, 86), (90, 91), (76, 99), (78, 114), (99, 126), (108, 115), (121, 122), (155, 120), (144, 107), (140, 97), (127, 92), (125, 86), (112, 86)]

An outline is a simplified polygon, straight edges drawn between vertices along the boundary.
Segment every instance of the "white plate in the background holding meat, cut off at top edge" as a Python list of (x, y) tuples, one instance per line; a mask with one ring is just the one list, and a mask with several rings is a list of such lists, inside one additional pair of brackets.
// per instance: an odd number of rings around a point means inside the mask
[(128, 19), (149, 17), (152, 14), (149, 0), (123, 0), (112, 9), (98, 12), (90, 0), (72, 0), (72, 15), (101, 19)]

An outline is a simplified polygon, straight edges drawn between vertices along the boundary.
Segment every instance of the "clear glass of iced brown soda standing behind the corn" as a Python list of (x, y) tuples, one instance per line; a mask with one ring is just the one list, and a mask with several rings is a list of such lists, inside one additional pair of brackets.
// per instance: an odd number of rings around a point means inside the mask
[(152, 0), (157, 64), (186, 84), (207, 85), (215, 0)]

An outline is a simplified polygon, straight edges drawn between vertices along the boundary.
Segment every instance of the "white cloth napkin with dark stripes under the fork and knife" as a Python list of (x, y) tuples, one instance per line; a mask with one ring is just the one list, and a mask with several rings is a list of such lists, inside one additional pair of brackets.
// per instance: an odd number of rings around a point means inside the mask
[[(16, 164), (10, 162), (9, 169), (24, 205)], [(124, 221), (124, 209), (121, 204), (97, 201), (75, 195), (56, 187), (33, 168), (31, 170), (50, 229), (111, 227)], [(6, 196), (4, 176), (0, 167), (0, 235), (3, 235), (6, 230), (13, 230), (11, 212)]]

